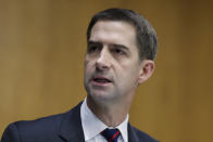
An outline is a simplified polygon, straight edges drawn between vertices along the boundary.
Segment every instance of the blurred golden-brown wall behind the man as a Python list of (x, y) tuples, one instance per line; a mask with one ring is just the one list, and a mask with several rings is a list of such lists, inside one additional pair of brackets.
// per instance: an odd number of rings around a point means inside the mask
[(68, 111), (86, 96), (86, 29), (108, 8), (133, 9), (159, 36), (155, 73), (130, 122), (161, 142), (212, 142), (213, 1), (0, 0), (0, 135), (13, 121)]

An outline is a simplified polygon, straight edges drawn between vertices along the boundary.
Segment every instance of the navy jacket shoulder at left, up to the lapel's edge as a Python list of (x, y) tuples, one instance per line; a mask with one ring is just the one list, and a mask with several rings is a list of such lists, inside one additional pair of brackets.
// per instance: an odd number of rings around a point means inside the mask
[[(58, 131), (63, 114), (35, 120), (20, 120), (10, 124), (3, 132), (1, 142), (49, 141), (59, 139)], [(51, 135), (51, 137), (50, 137)]]

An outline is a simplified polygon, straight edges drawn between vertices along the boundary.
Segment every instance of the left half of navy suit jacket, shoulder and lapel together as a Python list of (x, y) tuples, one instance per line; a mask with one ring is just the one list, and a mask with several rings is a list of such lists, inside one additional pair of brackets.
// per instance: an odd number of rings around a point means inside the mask
[(66, 113), (12, 122), (4, 130), (1, 142), (61, 142), (77, 130), (80, 135), (80, 104)]

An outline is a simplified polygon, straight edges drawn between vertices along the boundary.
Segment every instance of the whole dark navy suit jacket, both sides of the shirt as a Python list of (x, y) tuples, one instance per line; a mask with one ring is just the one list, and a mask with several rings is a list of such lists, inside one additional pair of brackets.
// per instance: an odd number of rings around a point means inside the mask
[[(1, 142), (84, 142), (80, 105), (64, 114), (13, 122), (3, 132)], [(129, 124), (128, 141), (158, 142)]]

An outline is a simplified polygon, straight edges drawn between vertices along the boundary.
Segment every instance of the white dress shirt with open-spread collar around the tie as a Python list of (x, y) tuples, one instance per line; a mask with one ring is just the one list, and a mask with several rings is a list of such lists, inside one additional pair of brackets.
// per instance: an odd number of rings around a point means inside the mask
[[(87, 106), (87, 98), (84, 100), (80, 106), (80, 118), (83, 131), (85, 134), (85, 142), (108, 142), (100, 134), (100, 132), (109, 127), (103, 121), (101, 121)], [(116, 127), (121, 132), (117, 142), (128, 142), (127, 125), (128, 115), (126, 116), (126, 119)]]

